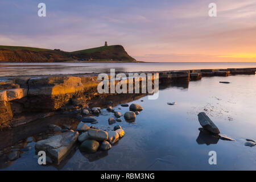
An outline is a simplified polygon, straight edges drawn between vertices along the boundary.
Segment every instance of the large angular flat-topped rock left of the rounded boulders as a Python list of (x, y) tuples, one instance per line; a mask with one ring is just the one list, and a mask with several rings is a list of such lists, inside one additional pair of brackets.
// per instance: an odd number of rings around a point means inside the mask
[(45, 151), (53, 162), (59, 164), (60, 161), (68, 155), (78, 137), (78, 132), (69, 130), (65, 133), (36, 142), (35, 148), (36, 151)]

